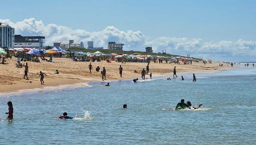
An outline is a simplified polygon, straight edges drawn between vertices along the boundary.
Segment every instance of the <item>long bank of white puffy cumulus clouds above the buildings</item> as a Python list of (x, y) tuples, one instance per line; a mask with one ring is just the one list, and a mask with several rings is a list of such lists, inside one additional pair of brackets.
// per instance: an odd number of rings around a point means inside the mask
[(162, 52), (174, 55), (186, 56), (190, 54), (192, 57), (211, 58), (212, 60), (231, 60), (231, 61), (253, 61), (252, 56), (256, 55), (255, 41), (220, 41), (220, 42), (204, 42), (202, 39), (187, 38), (167, 38), (160, 37), (151, 39), (143, 35), (142, 32), (121, 31), (114, 26), (108, 26), (99, 32), (88, 32), (84, 29), (70, 29), (65, 26), (57, 26), (55, 24), (44, 25), (43, 22), (36, 21), (35, 18), (25, 19), (21, 22), (11, 22), (10, 20), (1, 20), (0, 22), (9, 24), (15, 28), (15, 34), (23, 36), (45, 36), (46, 45), (52, 46), (55, 42), (65, 42), (74, 39), (74, 41), (83, 41), (87, 46), (87, 41), (94, 41), (95, 47), (107, 48), (108, 41), (116, 41), (123, 43), (124, 50), (145, 51), (146, 46), (152, 45), (154, 52)]

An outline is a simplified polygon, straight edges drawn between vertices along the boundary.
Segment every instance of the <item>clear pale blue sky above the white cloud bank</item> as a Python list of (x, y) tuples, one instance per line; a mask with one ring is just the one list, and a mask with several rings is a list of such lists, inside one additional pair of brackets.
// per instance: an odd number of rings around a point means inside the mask
[[(256, 41), (256, 1), (10, 0), (8, 3), (13, 10), (2, 7), (1, 10), (8, 13), (0, 19), (9, 19), (15, 24), (35, 18), (45, 26), (56, 24), (87, 32), (100, 32), (113, 26), (124, 32), (140, 31), (154, 40), (175, 37), (202, 39), (203, 43), (236, 42), (239, 39)], [(253, 47), (254, 44), (252, 50)], [(234, 54), (229, 56), (235, 57)]]

